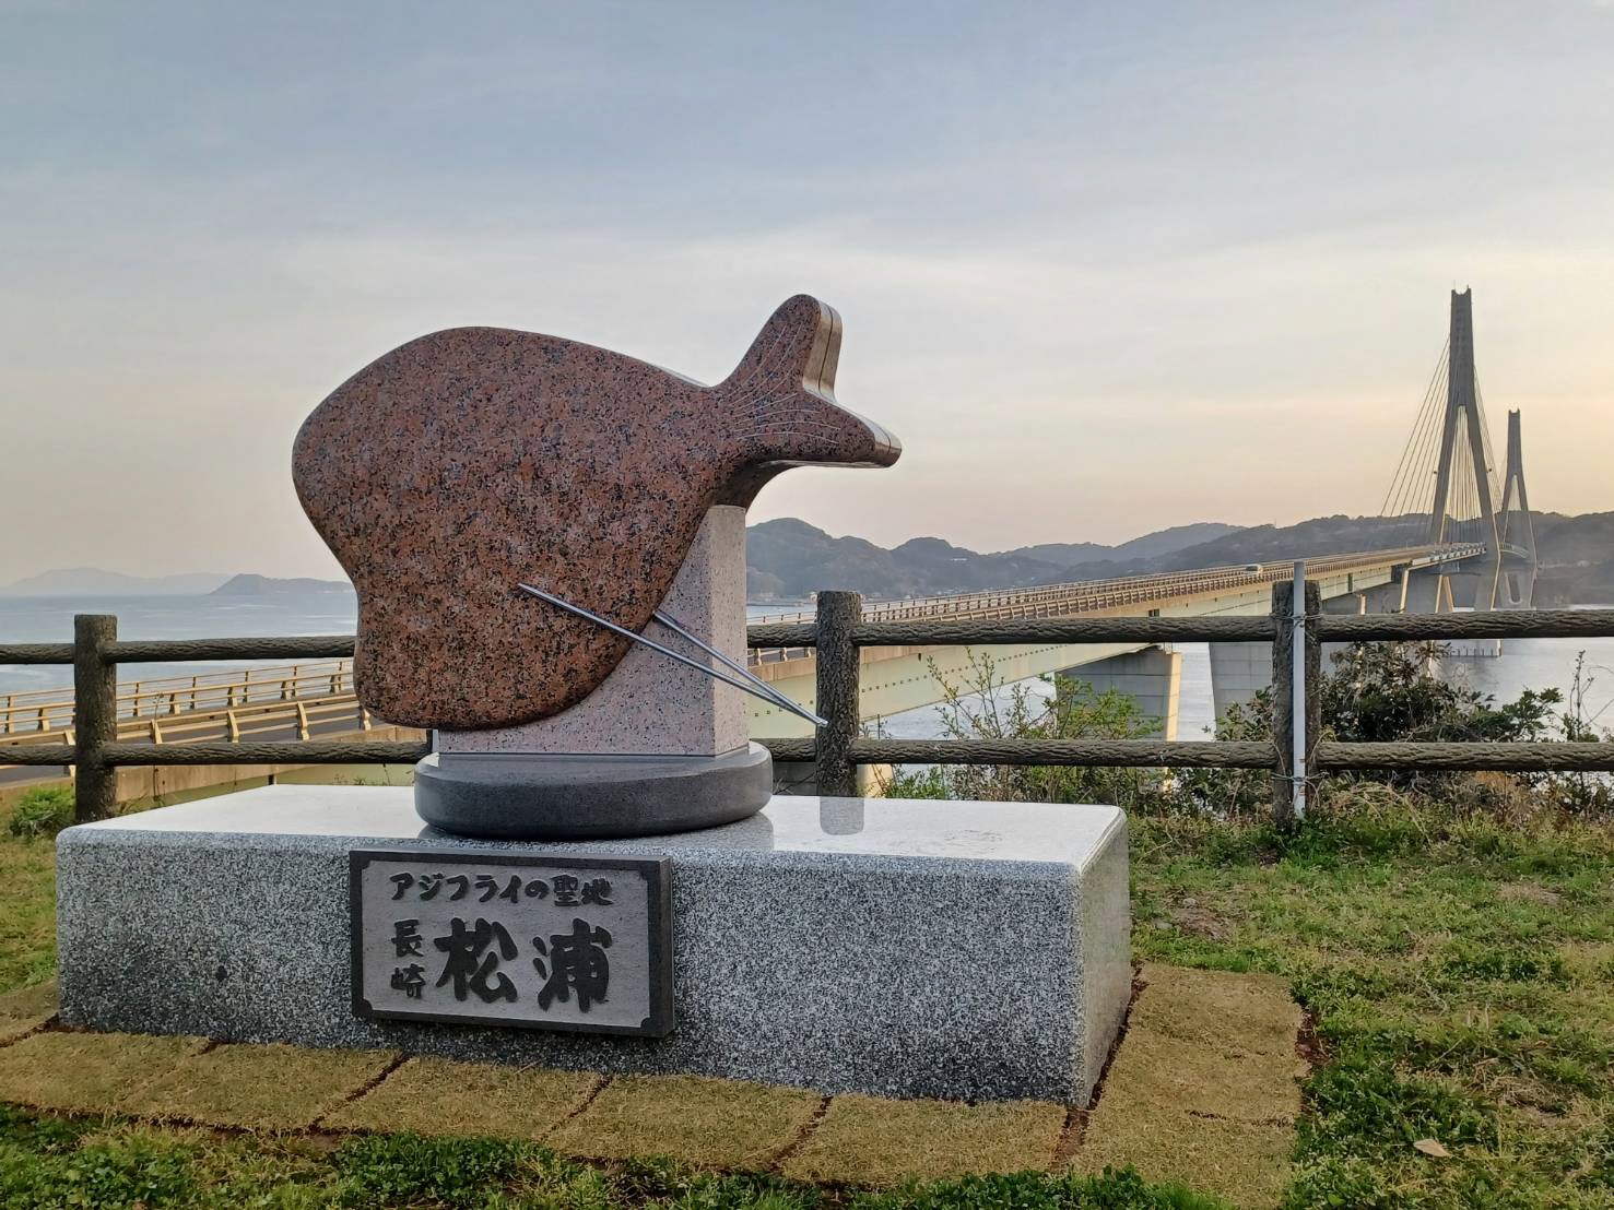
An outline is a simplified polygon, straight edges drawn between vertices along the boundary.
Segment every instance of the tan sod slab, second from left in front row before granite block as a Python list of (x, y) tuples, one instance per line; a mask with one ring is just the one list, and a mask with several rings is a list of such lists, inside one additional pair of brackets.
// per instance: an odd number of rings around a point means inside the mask
[(249, 1129), (307, 1129), (395, 1058), (384, 1050), (221, 1045), (190, 1055), (118, 1107), (147, 1118)]

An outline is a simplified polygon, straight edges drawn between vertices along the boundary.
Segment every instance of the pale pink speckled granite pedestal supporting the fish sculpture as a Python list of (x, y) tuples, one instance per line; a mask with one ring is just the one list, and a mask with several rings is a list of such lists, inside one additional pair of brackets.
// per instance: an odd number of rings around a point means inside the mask
[[(746, 661), (746, 510), (707, 511), (662, 608), (691, 634)], [(657, 623), (647, 637), (721, 668)], [(634, 647), (600, 687), (570, 710), (513, 728), (439, 731), (437, 750), (547, 755), (717, 757), (746, 747), (751, 702), (739, 689)]]

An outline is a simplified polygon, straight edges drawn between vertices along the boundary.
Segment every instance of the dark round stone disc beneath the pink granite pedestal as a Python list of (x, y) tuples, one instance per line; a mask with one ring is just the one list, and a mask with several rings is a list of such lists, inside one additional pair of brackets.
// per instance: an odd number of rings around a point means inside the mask
[(768, 805), (760, 744), (721, 757), (433, 753), (415, 766), (415, 810), (460, 836), (599, 841), (744, 820)]

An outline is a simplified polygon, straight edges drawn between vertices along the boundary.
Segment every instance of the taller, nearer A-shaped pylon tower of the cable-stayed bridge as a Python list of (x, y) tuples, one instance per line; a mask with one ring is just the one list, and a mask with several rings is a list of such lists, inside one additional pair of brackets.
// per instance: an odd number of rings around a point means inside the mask
[[(1435, 463), (1435, 503), (1430, 510), (1428, 540), (1433, 545), (1457, 540), (1485, 542), (1485, 553), (1472, 560), (1478, 574), (1474, 608), (1495, 608), (1503, 584), (1503, 540), (1493, 490), (1495, 466), (1474, 374), (1474, 290), (1451, 292), (1451, 339), (1446, 373), (1446, 415), (1441, 424), (1440, 461)], [(1511, 432), (1511, 431), (1509, 431)], [(1520, 484), (1524, 478), (1520, 474)], [(1457, 516), (1457, 513), (1475, 516)], [(1440, 578), (1435, 607), (1449, 608), (1451, 589)]]

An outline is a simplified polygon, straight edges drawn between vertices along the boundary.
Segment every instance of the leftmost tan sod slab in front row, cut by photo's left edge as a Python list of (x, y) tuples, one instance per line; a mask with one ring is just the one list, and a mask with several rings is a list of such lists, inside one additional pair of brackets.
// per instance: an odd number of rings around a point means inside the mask
[(207, 1039), (145, 1034), (34, 1034), (0, 1050), (0, 1100), (65, 1113), (108, 1113)]

